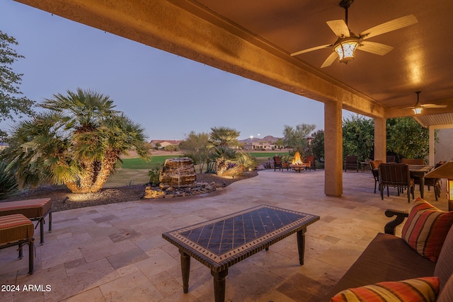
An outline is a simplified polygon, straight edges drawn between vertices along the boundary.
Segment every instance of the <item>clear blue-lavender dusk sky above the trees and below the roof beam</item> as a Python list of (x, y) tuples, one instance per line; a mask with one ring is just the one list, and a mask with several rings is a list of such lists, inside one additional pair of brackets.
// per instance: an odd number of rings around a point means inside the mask
[(285, 124), (323, 129), (323, 103), (14, 1), (0, 0), (0, 30), (25, 57), (12, 65), (25, 96), (41, 102), (78, 87), (99, 91), (150, 140), (221, 126), (241, 132), (239, 139), (282, 137)]

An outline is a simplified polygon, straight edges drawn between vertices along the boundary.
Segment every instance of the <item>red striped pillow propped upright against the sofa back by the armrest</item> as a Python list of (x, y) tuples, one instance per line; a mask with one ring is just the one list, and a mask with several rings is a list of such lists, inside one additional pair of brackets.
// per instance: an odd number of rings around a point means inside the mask
[(424, 199), (413, 203), (401, 237), (414, 250), (437, 262), (442, 244), (453, 223), (453, 211), (440, 211)]

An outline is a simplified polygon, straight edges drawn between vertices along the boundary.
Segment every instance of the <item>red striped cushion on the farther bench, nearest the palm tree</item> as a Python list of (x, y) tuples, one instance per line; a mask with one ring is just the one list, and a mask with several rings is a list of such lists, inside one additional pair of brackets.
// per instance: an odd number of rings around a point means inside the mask
[(44, 216), (50, 209), (52, 209), (50, 198), (0, 202), (0, 216), (22, 214), (31, 219)]

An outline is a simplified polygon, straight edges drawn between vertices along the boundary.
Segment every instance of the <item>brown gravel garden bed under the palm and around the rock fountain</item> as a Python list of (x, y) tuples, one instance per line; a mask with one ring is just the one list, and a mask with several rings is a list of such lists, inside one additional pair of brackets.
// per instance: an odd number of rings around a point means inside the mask
[[(231, 183), (243, 180), (246, 178), (253, 178), (258, 175), (256, 171), (246, 173), (246, 175), (229, 179), (219, 178), (214, 174), (197, 174), (197, 182), (217, 182), (222, 183), (224, 186), (231, 185)], [(23, 199), (36, 199), (36, 198), (50, 198), (52, 199), (53, 211), (64, 211), (68, 209), (77, 209), (83, 207), (92, 207), (100, 204), (113, 204), (117, 202), (130, 202), (132, 200), (139, 200), (144, 194), (145, 185), (131, 185), (125, 187), (112, 187), (101, 190), (101, 192), (90, 194), (72, 194), (71, 191), (65, 186), (40, 186), (35, 189), (30, 189), (17, 194), (10, 199), (4, 199), (0, 202), (11, 202), (14, 200)], [(215, 194), (215, 192), (207, 193)], [(176, 198), (191, 198), (176, 197)]]

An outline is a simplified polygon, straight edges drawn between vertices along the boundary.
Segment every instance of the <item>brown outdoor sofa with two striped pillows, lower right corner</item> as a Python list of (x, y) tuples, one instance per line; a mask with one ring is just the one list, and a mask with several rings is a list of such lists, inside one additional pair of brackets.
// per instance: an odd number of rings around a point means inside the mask
[[(411, 294), (425, 294), (425, 301), (453, 301), (453, 211), (440, 211), (418, 198), (409, 212), (385, 214), (396, 218), (331, 289), (331, 301), (371, 301), (375, 294), (385, 297), (389, 292), (401, 295), (400, 300), (386, 296), (384, 301), (424, 301), (406, 296)], [(403, 222), (401, 238), (394, 236)]]

